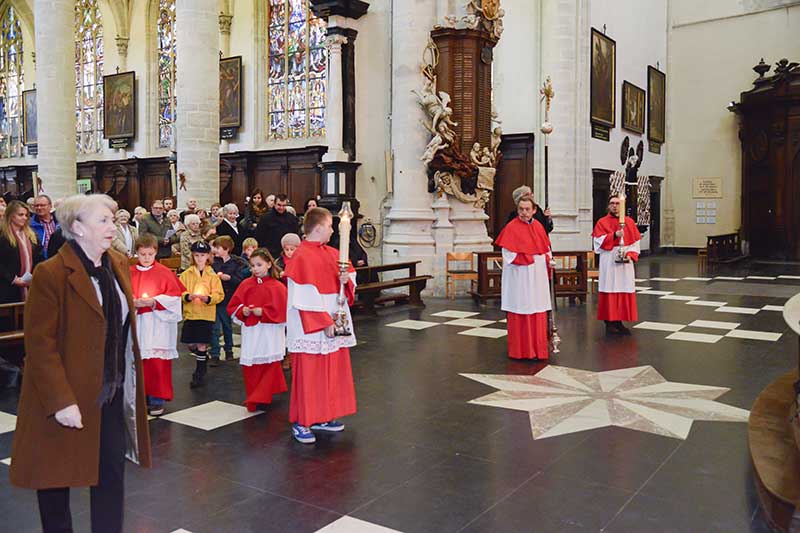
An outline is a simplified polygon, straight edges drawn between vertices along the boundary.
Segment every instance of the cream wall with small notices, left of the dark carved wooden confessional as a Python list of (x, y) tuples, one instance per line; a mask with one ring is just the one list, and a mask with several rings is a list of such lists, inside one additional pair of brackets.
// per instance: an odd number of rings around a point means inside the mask
[[(673, 0), (667, 77), (667, 190), (675, 213), (675, 246), (701, 247), (707, 235), (741, 225), (741, 145), (726, 109), (752, 87), (751, 68), (800, 58), (800, 5), (782, 2)], [(766, 9), (766, 10), (765, 10)], [(716, 224), (696, 224), (692, 183), (722, 178)], [(669, 201), (669, 200), (668, 200)]]

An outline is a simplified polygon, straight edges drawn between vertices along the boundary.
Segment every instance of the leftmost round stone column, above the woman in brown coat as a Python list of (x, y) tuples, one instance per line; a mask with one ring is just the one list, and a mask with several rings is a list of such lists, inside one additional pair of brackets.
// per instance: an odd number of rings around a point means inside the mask
[(75, 1), (37, 0), (34, 18), (36, 49), (46, 51), (36, 61), (38, 174), (56, 199), (77, 193)]

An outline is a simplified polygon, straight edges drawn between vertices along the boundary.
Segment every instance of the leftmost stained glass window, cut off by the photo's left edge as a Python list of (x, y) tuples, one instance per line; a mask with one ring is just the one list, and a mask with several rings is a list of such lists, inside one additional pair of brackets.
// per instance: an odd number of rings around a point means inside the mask
[(0, 22), (0, 157), (22, 155), (22, 31), (8, 7)]

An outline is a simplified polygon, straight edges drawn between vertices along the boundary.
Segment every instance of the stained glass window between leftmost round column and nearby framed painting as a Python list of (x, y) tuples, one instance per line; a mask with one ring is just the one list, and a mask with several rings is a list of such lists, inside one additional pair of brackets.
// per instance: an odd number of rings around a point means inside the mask
[(75, 1), (75, 144), (79, 154), (103, 145), (103, 20), (97, 0)]

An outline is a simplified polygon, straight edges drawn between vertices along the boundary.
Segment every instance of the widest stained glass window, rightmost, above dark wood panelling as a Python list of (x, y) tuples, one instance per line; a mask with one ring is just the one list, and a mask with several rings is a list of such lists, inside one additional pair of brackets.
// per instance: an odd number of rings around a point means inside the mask
[(325, 134), (326, 26), (308, 0), (265, 0), (269, 139)]

